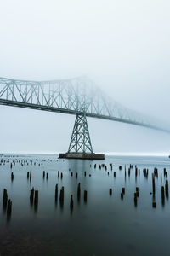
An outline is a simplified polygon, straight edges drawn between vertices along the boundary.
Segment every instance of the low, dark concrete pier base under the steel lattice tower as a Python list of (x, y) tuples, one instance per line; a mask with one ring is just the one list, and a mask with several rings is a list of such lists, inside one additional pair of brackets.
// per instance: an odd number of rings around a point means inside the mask
[(84, 160), (105, 160), (105, 154), (83, 154), (83, 153), (64, 153), (59, 154), (59, 158), (84, 159)]

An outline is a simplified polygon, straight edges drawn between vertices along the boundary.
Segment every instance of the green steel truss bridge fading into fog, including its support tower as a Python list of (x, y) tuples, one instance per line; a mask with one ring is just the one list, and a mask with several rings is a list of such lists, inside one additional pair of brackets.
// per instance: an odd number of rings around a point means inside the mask
[(0, 104), (76, 115), (71, 143), (61, 158), (103, 159), (94, 154), (87, 117), (167, 131), (141, 113), (125, 108), (86, 78), (26, 81), (0, 78)]

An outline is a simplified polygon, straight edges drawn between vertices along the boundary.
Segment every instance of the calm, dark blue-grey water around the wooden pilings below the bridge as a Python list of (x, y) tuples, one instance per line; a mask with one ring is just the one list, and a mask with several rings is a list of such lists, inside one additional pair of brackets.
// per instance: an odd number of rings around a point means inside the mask
[[(168, 176), (170, 169), (167, 158), (107, 156), (105, 161), (90, 161), (58, 160), (54, 155), (13, 155), (3, 156), (1, 160), (6, 160), (5, 165), (0, 166), (1, 256), (170, 255), (170, 204), (168, 198), (165, 198), (164, 205), (161, 201), (161, 186), (166, 180), (163, 169), (167, 169)], [(11, 169), (10, 163), (14, 160)], [(107, 166), (107, 171), (103, 167), (99, 169), (101, 164)], [(130, 164), (133, 164), (133, 169), (128, 176)], [(135, 165), (140, 169), (137, 177)], [(119, 166), (122, 166), (122, 171)], [(157, 207), (153, 208), (150, 192), (155, 167), (158, 169), (158, 178), (155, 178)], [(144, 168), (149, 169), (148, 178), (144, 177)], [(27, 179), (30, 171), (31, 181)], [(42, 178), (43, 171), (48, 172), (48, 180)], [(62, 179), (60, 175), (58, 177), (58, 171), (63, 172)], [(13, 182), (11, 172), (14, 172)], [(64, 207), (60, 207), (59, 195), (55, 201), (57, 183), (59, 190), (62, 186), (65, 188)], [(81, 183), (80, 201), (77, 200), (78, 183)], [(32, 187), (39, 191), (37, 208), (30, 204)], [(126, 190), (123, 200), (122, 187)], [(139, 187), (137, 206), (133, 200), (136, 187)], [(13, 202), (10, 219), (3, 210), (4, 188)], [(110, 188), (113, 189), (112, 195), (109, 194)], [(88, 191), (87, 203), (83, 199), (85, 189)], [(72, 213), (71, 195), (74, 200)]]

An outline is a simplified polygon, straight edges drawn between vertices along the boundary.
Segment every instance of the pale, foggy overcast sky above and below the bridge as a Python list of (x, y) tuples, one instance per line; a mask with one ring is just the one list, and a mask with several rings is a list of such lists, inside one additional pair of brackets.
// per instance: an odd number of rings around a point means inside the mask
[[(0, 2), (0, 76), (87, 75), (128, 108), (169, 122), (169, 0)], [(74, 116), (0, 106), (0, 152), (65, 152)], [(170, 135), (88, 119), (95, 152), (170, 153)]]

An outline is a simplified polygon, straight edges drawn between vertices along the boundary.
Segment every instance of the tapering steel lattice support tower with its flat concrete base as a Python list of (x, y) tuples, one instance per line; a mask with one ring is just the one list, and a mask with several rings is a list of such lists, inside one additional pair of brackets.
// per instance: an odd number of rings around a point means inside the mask
[(94, 154), (86, 113), (77, 114), (68, 152), (59, 154), (59, 158), (104, 160), (104, 154)]

